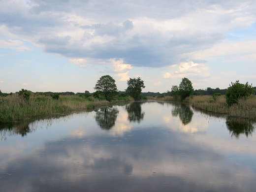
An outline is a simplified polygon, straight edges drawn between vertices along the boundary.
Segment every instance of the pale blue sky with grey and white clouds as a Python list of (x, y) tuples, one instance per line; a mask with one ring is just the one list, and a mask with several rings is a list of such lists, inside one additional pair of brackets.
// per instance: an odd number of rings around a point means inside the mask
[(0, 0), (0, 90), (256, 86), (256, 0)]

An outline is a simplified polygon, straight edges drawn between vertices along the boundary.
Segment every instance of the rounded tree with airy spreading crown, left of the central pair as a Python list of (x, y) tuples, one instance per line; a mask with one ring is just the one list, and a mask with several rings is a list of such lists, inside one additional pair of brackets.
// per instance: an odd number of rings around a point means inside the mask
[(104, 96), (106, 100), (110, 101), (114, 96), (118, 95), (115, 82), (115, 79), (113, 79), (110, 75), (104, 75), (97, 80), (94, 89), (98, 95)]

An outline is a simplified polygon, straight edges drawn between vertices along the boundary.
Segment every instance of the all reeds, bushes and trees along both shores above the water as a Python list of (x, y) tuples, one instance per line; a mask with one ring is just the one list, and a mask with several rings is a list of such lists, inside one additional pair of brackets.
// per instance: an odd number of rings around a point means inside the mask
[[(183, 78), (166, 93), (142, 93), (145, 88), (140, 77), (129, 79), (128, 88), (118, 91), (115, 80), (104, 75), (96, 82), (94, 93), (32, 93), (22, 89), (14, 94), (0, 91), (0, 123), (10, 123), (41, 115), (59, 114), (72, 110), (108, 106), (113, 102), (140, 99), (187, 102), (192, 107), (208, 112), (256, 120), (256, 88), (252, 85), (231, 83), (225, 89), (194, 90), (192, 82)], [(199, 95), (208, 94), (208, 95)], [(153, 96), (150, 96), (153, 95)], [(198, 96), (199, 95), (199, 96)]]

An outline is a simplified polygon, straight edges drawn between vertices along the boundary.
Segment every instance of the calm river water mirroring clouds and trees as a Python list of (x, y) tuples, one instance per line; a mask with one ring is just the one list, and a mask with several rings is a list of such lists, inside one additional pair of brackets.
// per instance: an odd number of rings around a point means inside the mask
[(0, 127), (1, 192), (255, 192), (255, 122), (134, 102)]

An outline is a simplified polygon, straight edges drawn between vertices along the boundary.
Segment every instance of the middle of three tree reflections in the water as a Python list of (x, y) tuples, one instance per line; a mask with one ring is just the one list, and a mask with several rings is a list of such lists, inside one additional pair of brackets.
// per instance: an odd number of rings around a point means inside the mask
[(128, 112), (128, 120), (130, 122), (140, 123), (143, 120), (145, 112), (142, 112), (141, 104), (144, 102), (133, 102), (126, 106)]

